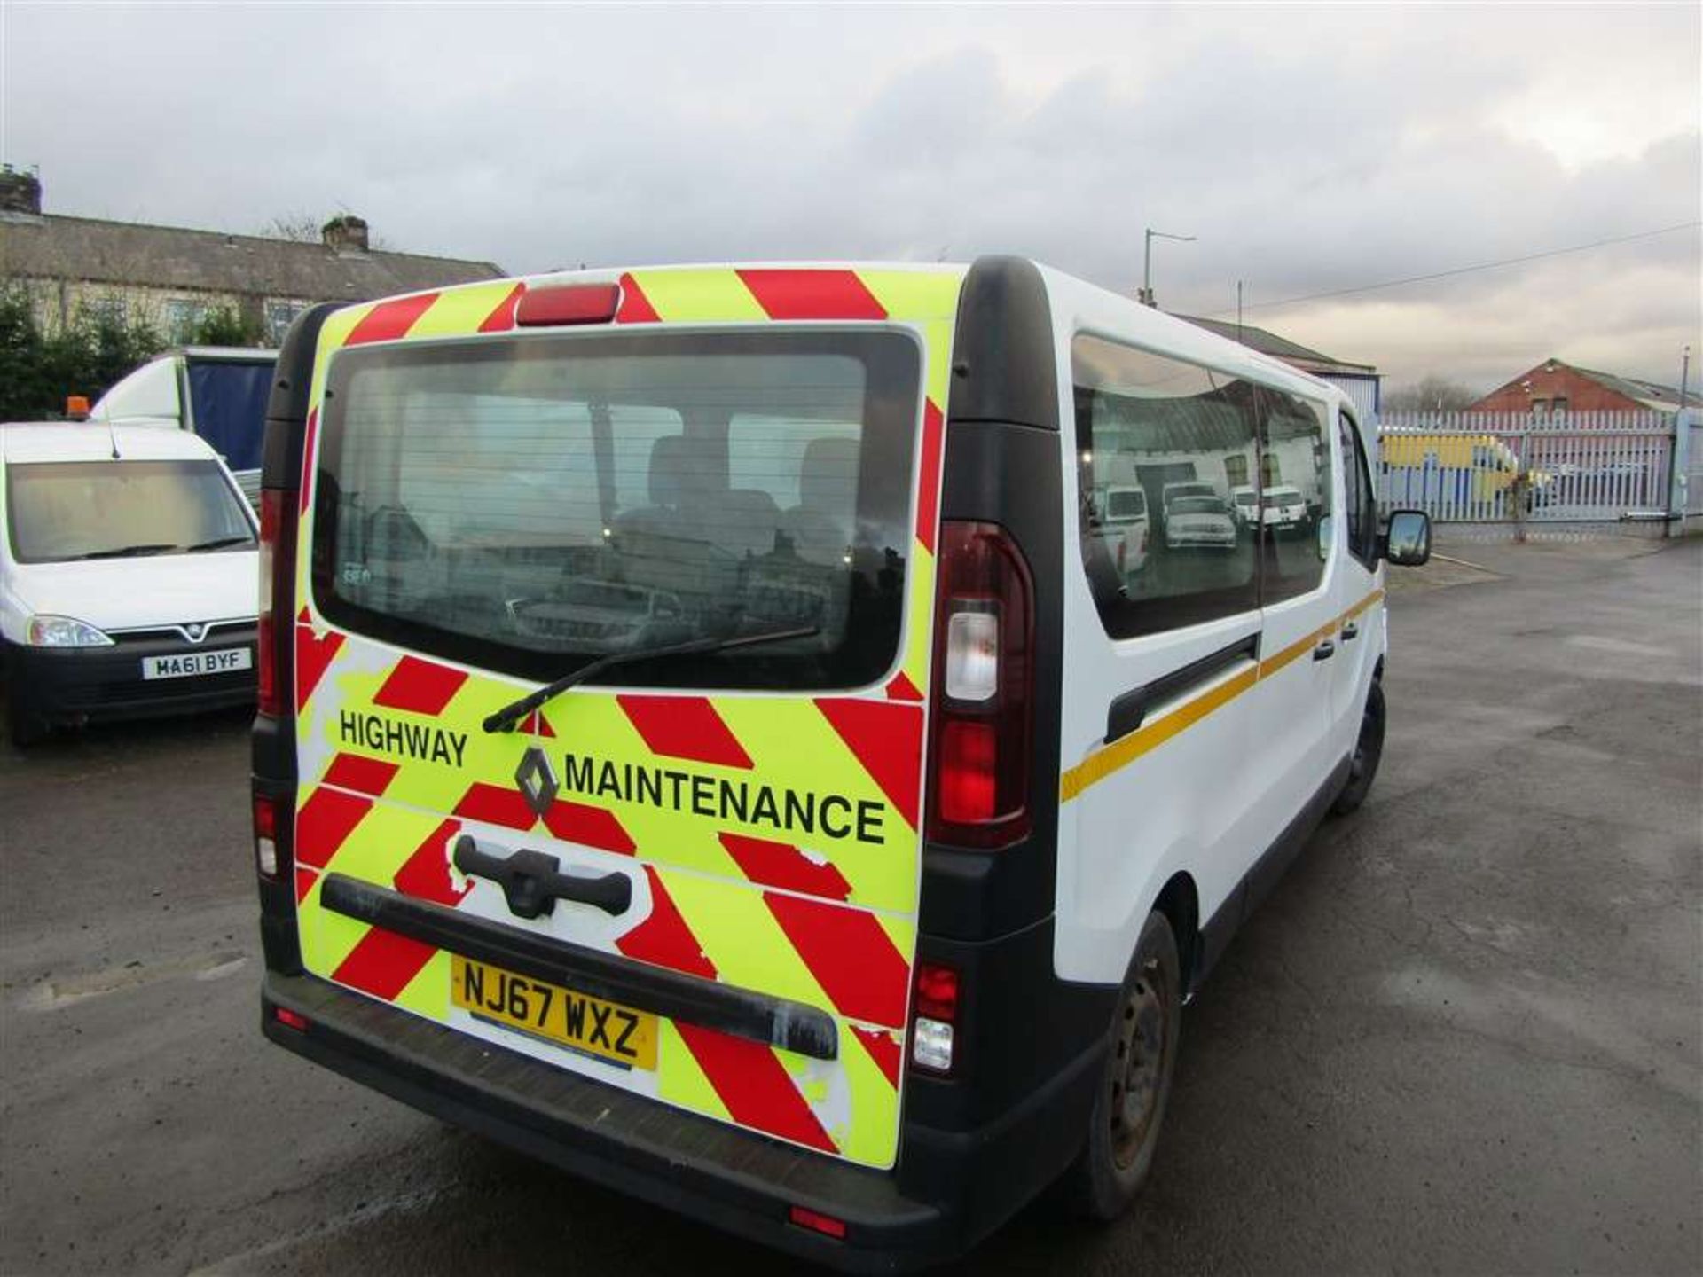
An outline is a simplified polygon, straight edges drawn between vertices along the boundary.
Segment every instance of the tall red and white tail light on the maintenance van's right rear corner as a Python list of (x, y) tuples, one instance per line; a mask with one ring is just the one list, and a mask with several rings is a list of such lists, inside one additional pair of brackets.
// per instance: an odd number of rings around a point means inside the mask
[(940, 528), (928, 836), (996, 848), (1030, 827), (1034, 587), (993, 523)]

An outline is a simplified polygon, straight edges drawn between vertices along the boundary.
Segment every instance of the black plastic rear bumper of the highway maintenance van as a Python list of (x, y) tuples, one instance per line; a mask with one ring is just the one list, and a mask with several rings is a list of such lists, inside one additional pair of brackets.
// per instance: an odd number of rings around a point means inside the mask
[[(279, 1006), (308, 1027), (281, 1023)], [(908, 1119), (901, 1160), (921, 1171), (908, 1175), (903, 1165), (855, 1166), (605, 1086), (313, 976), (266, 974), (262, 1032), (552, 1166), (841, 1272), (940, 1263), (1003, 1223), (1061, 1168), (1061, 1134), (1087, 1129), (1102, 1062), (1095, 1042), (974, 1131), (935, 1131)], [(920, 1098), (913, 1095), (908, 1107)], [(901, 1183), (925, 1185), (926, 1200)], [(792, 1224), (795, 1205), (845, 1221), (845, 1240)]]

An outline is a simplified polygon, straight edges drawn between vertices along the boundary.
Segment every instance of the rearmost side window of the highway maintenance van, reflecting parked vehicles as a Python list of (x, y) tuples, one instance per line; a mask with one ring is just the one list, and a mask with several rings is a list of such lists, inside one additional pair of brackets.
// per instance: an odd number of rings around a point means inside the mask
[[(1255, 541), (1230, 484), (1255, 473), (1257, 388), (1087, 334), (1071, 366), (1081, 558), (1105, 632), (1129, 638), (1257, 608)], [(1139, 518), (1121, 514), (1138, 504)]]

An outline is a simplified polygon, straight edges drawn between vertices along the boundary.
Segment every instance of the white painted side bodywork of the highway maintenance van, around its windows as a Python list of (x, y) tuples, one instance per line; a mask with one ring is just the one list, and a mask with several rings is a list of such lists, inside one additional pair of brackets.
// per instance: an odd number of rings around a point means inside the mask
[[(1347, 541), (1344, 521), (1335, 518), (1325, 570), (1306, 594), (1161, 633), (1107, 637), (1078, 552), (1075, 516), (1069, 514), (1083, 501), (1076, 465), (1073, 337), (1105, 337), (1287, 392), (1304, 398), (1332, 432), (1344, 397), (1323, 381), (1127, 298), (1056, 271), (1042, 269), (1042, 278), (1054, 315), (1061, 395), (1059, 470), (1063, 507), (1071, 519), (1064, 530), (1066, 676), (1059, 756), (1061, 770), (1069, 771), (1104, 747), (1107, 708), (1121, 693), (1255, 633), (1265, 657), (1308, 642), (1371, 589), (1371, 574), (1364, 574), (1364, 581), (1344, 581)], [(1337, 455), (1335, 446), (1330, 455)], [(1206, 482), (1228, 492), (1221, 478)], [(1330, 507), (1339, 511), (1340, 465), (1332, 465), (1328, 484)], [(1350, 593), (1354, 599), (1347, 598)], [(1054, 971), (1059, 979), (1121, 982), (1148, 913), (1177, 873), (1187, 873), (1194, 882), (1202, 925), (1221, 909), (1236, 916), (1241, 908), (1236, 894), (1248, 870), (1352, 749), (1371, 669), (1385, 642), (1381, 610), (1364, 621), (1356, 652), (1361, 659), (1352, 674), (1344, 673), (1345, 662), (1337, 659), (1313, 661), (1308, 654), (1291, 659), (1281, 673), (1255, 681), (1134, 763), (1061, 800), (1054, 901)], [(1255, 669), (1252, 659), (1240, 661), (1209, 683), (1150, 707), (1144, 722), (1178, 713)], [(1333, 695), (1339, 679), (1344, 686)]]

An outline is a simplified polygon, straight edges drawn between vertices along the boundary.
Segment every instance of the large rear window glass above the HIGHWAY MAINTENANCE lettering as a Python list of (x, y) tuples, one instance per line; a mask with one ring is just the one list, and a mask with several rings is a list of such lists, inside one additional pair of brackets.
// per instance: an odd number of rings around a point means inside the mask
[(921, 351), (892, 330), (547, 334), (335, 356), (313, 591), (347, 628), (548, 679), (852, 688), (897, 656)]

